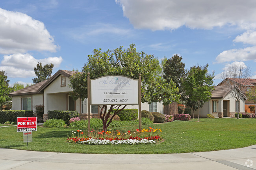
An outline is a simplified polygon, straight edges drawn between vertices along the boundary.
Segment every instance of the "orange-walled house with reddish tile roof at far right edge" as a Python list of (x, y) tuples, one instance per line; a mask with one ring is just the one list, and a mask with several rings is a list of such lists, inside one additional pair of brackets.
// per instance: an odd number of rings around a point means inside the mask
[[(220, 82), (217, 86), (223, 86), (229, 84), (237, 84), (238, 86), (243, 86), (241, 90), (243, 91), (244, 95), (246, 96), (250, 90), (256, 88), (256, 79), (234, 79), (234, 78), (226, 78), (222, 82)], [(256, 106), (256, 102), (254, 101), (245, 101), (245, 112), (250, 112), (249, 106), (254, 105)], [(253, 112), (255, 113), (255, 111)]]

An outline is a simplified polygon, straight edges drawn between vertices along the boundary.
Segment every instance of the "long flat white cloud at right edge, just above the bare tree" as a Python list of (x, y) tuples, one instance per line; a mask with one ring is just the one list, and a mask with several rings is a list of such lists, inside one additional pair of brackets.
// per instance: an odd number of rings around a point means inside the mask
[(223, 51), (216, 57), (217, 63), (256, 60), (256, 46)]

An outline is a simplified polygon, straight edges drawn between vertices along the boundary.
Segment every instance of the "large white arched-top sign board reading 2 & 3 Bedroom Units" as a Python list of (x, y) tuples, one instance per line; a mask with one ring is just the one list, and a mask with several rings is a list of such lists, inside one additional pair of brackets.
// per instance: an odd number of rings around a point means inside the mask
[(91, 79), (91, 105), (139, 104), (138, 79), (109, 75)]

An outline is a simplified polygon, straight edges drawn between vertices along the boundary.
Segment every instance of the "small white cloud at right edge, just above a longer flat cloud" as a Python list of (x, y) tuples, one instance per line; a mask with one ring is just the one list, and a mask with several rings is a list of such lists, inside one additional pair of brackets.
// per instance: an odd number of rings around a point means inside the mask
[(234, 39), (234, 42), (256, 45), (256, 31), (247, 31)]

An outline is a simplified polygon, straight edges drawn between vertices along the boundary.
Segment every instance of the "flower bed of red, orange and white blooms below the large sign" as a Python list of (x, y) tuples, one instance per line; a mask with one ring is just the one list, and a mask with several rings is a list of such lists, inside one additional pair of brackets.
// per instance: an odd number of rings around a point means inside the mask
[[(77, 144), (89, 144), (89, 145), (105, 145), (105, 144), (154, 144), (157, 141), (161, 141), (160, 135), (153, 135), (153, 133), (162, 132), (161, 129), (154, 129), (149, 127), (149, 129), (143, 129), (135, 132), (120, 133), (116, 130), (116, 134), (111, 131), (102, 130), (101, 132), (96, 132), (91, 130), (90, 137), (87, 137), (82, 130), (77, 130), (77, 132), (72, 131), (71, 137), (67, 138), (68, 143)], [(133, 136), (136, 135), (136, 136)], [(119, 136), (119, 137), (117, 137)]]

